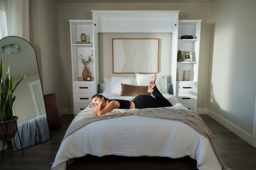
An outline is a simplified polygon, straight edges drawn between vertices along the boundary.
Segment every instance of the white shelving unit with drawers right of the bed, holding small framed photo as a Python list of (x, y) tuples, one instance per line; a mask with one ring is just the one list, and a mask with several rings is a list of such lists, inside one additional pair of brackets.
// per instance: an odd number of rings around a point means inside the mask
[[(179, 81), (177, 81), (176, 97), (190, 111), (197, 109), (198, 62), (202, 20), (179, 20), (178, 49), (192, 52), (192, 62), (177, 62)], [(181, 36), (192, 35), (194, 39), (180, 39)], [(190, 81), (182, 81), (184, 70), (190, 70)]]

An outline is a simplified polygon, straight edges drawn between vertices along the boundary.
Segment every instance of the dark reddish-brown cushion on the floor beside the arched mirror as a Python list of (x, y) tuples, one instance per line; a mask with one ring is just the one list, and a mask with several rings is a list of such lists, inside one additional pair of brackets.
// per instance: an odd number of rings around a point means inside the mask
[(57, 101), (55, 94), (44, 95), (44, 105), (46, 109), (46, 116), (50, 130), (61, 128), (60, 113), (57, 108)]

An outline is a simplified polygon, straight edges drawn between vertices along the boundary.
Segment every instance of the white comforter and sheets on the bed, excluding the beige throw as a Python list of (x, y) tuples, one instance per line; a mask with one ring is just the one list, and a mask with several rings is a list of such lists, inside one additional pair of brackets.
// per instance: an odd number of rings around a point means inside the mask
[[(112, 99), (116, 96), (103, 94)], [(172, 95), (164, 95), (177, 109), (186, 109)], [(129, 99), (133, 97), (118, 97)], [(95, 112), (84, 109), (79, 114)], [(53, 169), (66, 169), (66, 161), (87, 154), (94, 156), (160, 156), (197, 160), (200, 170), (222, 169), (208, 139), (190, 126), (157, 118), (125, 116), (90, 123), (61, 143)], [(86, 167), (86, 165), (85, 165)]]

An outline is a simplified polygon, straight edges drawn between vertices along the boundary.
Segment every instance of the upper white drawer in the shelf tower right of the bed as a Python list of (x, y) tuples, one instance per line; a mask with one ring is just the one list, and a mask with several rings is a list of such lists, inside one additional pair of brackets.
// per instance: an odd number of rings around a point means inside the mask
[(177, 82), (177, 92), (197, 93), (197, 82), (195, 81), (180, 81)]

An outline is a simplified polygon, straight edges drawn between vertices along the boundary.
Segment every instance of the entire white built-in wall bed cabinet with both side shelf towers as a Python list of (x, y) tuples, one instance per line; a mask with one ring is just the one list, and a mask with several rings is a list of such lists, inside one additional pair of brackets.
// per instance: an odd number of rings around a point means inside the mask
[[(97, 94), (99, 83), (98, 33), (172, 33), (171, 83), (173, 94), (179, 101), (196, 112), (198, 61), (201, 20), (179, 20), (179, 11), (92, 11), (92, 20), (69, 20), (71, 40), (71, 61), (73, 77), (74, 114), (79, 113)], [(76, 44), (81, 33), (86, 33), (92, 44)], [(181, 40), (182, 35), (193, 35), (194, 39)], [(177, 50), (193, 52), (193, 62), (177, 62)], [(93, 63), (89, 66), (92, 81), (78, 81), (84, 66), (79, 59), (91, 55)], [(183, 70), (191, 70), (190, 81), (182, 80)]]

